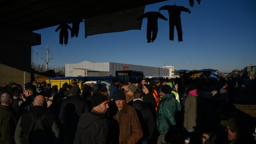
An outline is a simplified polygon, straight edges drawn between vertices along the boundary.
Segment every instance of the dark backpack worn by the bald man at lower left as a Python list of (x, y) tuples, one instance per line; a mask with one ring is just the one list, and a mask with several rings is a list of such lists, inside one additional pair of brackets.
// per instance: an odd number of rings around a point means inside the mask
[(49, 135), (50, 129), (42, 122), (48, 114), (49, 113), (46, 113), (41, 117), (37, 115), (35, 118), (34, 115), (29, 112), (32, 123), (30, 124), (27, 133), (28, 144), (40, 143), (38, 140), (42, 140), (42, 138), (46, 138)]

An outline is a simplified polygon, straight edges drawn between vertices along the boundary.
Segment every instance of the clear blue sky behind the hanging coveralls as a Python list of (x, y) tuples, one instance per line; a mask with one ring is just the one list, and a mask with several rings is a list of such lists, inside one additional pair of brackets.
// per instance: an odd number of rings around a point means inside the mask
[[(173, 5), (175, 0), (147, 5), (145, 12), (158, 11), (161, 6)], [(58, 27), (34, 31), (41, 34), (41, 45), (33, 46), (32, 60), (45, 64), (45, 45), (49, 45), (53, 59), (49, 67), (63, 67), (82, 61), (116, 62), (153, 67), (164, 65), (180, 69), (217, 69), (231, 72), (247, 65), (256, 65), (256, 0), (176, 0), (191, 13), (181, 12), (183, 42), (178, 42), (176, 28), (174, 41), (169, 40), (169, 15), (160, 11), (168, 21), (158, 19), (158, 34), (153, 43), (147, 43), (147, 19), (141, 30), (98, 34), (84, 37), (84, 23), (79, 36), (69, 39), (67, 46), (59, 44)], [(72, 24), (70, 24), (72, 26)]]

